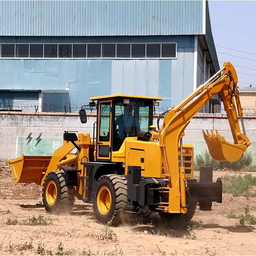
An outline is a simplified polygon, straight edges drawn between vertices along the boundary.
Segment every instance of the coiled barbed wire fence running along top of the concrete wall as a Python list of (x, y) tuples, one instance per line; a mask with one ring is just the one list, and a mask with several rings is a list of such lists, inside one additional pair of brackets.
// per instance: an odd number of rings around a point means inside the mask
[[(2, 104), (0, 103), (0, 111), (19, 111), (19, 112), (64, 112), (64, 113), (74, 113), (78, 112), (82, 106), (88, 105), (88, 103), (84, 104), (23, 104), (23, 103), (12, 103), (12, 104)], [(170, 105), (159, 104), (158, 107), (154, 108), (154, 113), (163, 113), (167, 109), (169, 109)], [(96, 109), (93, 108), (92, 111)], [(87, 110), (90, 111), (90, 110)], [(199, 111), (202, 114), (226, 114), (226, 111), (220, 105), (213, 105), (212, 108), (207, 108), (204, 111)], [(252, 114), (256, 115), (256, 106), (245, 106), (243, 107), (244, 114)]]

